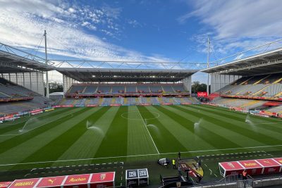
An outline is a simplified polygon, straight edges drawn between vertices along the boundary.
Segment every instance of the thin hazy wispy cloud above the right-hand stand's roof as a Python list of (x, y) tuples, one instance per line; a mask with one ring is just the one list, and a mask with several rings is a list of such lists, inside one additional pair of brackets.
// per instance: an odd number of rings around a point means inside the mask
[[(219, 56), (250, 49), (282, 37), (280, 0), (204, 0), (188, 1), (188, 4), (193, 10), (177, 20), (180, 24), (185, 24), (190, 19), (197, 19), (204, 25), (202, 32), (190, 38), (197, 42), (198, 51), (206, 51), (207, 36), (212, 39), (214, 50), (221, 54)], [(275, 46), (269, 46), (268, 50), (271, 48)]]

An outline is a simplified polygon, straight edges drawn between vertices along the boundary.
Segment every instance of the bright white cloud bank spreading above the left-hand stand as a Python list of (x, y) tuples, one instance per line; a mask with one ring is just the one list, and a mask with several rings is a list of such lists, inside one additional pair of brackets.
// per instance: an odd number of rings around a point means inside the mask
[[(34, 49), (42, 39), (44, 30), (47, 30), (47, 45), (49, 58), (51, 54), (91, 60), (121, 60), (121, 61), (164, 61), (169, 60), (161, 56), (145, 56), (137, 51), (124, 49), (106, 42), (103, 38), (88, 35), (81, 30), (80, 25), (90, 27), (88, 20), (75, 20), (72, 14), (81, 14), (90, 11), (78, 7), (69, 7), (68, 4), (51, 4), (45, 1), (0, 0), (0, 41), (12, 46)], [(53, 2), (53, 1), (50, 1)], [(107, 22), (114, 24), (121, 10), (109, 7), (101, 10), (92, 10), (92, 17), (100, 19), (100, 15), (107, 15)], [(66, 16), (67, 15), (67, 16)], [(69, 21), (68, 16), (70, 16)], [(74, 21), (73, 21), (74, 20)], [(95, 26), (93, 25), (93, 28)], [(115, 29), (116, 30), (116, 29)], [(104, 30), (106, 35), (114, 35)], [(44, 52), (40, 48), (39, 51)]]

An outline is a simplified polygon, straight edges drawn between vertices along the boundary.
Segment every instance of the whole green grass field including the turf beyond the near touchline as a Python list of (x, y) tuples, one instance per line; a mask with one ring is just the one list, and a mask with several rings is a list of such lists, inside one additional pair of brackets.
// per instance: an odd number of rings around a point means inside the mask
[(58, 108), (0, 125), (0, 178), (75, 174), (91, 164), (100, 166), (96, 171), (147, 167), (158, 182), (171, 173), (157, 159), (180, 151), (183, 158), (202, 158), (205, 178), (220, 179), (219, 161), (272, 158), (281, 148), (281, 120), (227, 108)]

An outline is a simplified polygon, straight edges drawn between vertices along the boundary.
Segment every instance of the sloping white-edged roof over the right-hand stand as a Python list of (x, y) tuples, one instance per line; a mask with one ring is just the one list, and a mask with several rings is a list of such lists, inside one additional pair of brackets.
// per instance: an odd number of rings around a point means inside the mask
[(242, 76), (282, 73), (282, 49), (268, 51), (201, 71), (204, 73)]

